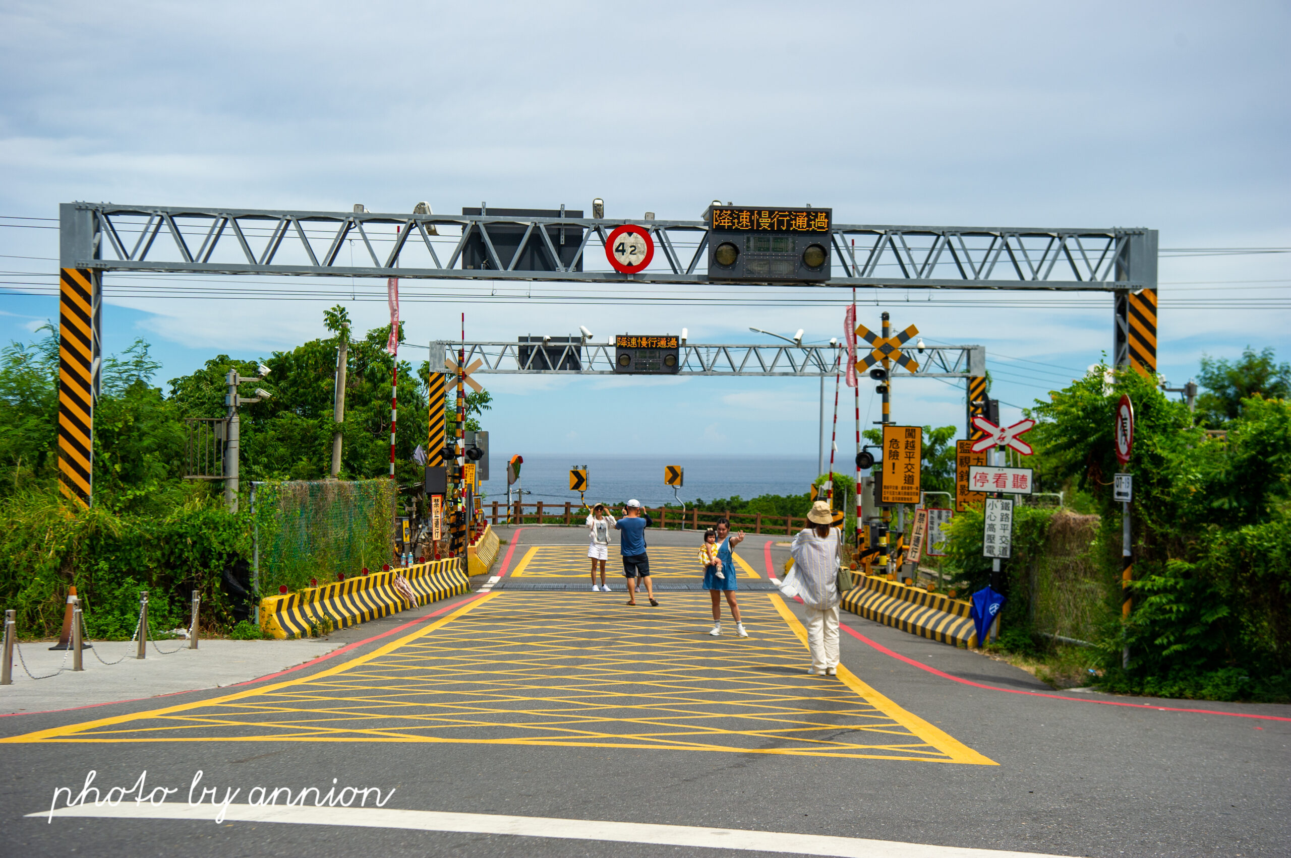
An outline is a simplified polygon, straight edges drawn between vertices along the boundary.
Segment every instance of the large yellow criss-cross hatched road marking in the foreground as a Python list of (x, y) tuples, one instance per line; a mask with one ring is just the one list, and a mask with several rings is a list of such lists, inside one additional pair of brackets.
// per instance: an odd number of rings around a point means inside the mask
[(451, 742), (994, 765), (844, 670), (807, 676), (806, 632), (751, 594), (751, 637), (707, 599), (627, 608), (494, 592), (367, 655), (261, 689), (0, 742)]

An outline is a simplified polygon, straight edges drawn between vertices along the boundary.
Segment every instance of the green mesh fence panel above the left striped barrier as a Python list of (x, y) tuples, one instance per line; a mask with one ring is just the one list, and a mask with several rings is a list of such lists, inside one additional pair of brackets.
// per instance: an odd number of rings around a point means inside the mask
[(259, 588), (276, 592), (380, 569), (394, 555), (394, 480), (270, 483), (259, 486), (256, 519)]

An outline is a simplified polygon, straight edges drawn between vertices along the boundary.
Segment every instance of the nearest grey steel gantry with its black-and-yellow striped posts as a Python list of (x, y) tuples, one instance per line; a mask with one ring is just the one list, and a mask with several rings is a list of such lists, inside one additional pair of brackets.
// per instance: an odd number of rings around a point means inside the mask
[[(705, 221), (381, 214), (212, 206), (65, 203), (59, 206), (59, 479), (92, 499), (93, 409), (98, 399), (103, 274), (300, 275), (325, 277), (719, 283), (706, 271)], [(590, 270), (618, 226), (648, 230), (658, 252), (640, 274)], [(494, 228), (501, 227), (501, 230)], [(493, 230), (491, 235), (489, 230)], [(523, 231), (514, 252), (500, 232)], [(478, 243), (473, 252), (473, 243)], [(363, 264), (343, 264), (359, 245)], [(1117, 365), (1157, 368), (1157, 231), (1145, 228), (930, 227), (834, 223), (830, 276), (811, 289), (1008, 289), (1114, 294)], [(506, 245), (503, 245), (506, 246)], [(574, 250), (571, 254), (569, 248)], [(519, 270), (537, 253), (550, 270)], [(527, 255), (528, 254), (528, 255)], [(476, 259), (471, 262), (469, 259)], [(367, 262), (371, 261), (371, 264)], [(751, 284), (757, 285), (757, 284)], [(755, 347), (757, 348), (757, 347)], [(757, 356), (757, 352), (754, 352)], [(704, 366), (695, 356), (693, 366)], [(735, 365), (735, 364), (732, 364)], [(749, 364), (741, 364), (747, 366)], [(759, 364), (760, 366), (762, 364)], [(786, 366), (789, 364), (785, 364)], [(735, 374), (735, 373), (731, 373)], [(758, 374), (766, 374), (759, 372)], [(788, 374), (802, 374), (790, 372)]]

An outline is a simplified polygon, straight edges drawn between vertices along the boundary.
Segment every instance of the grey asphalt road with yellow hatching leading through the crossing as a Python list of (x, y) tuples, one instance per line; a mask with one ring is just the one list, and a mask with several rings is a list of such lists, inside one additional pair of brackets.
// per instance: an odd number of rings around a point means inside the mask
[[(780, 568), (784, 537), (741, 546), (750, 637), (727, 622), (715, 639), (707, 595), (675, 590), (697, 581), (695, 534), (649, 534), (658, 608), (625, 605), (621, 577), (593, 594), (578, 530), (502, 535), (492, 590), (333, 634), (349, 645), (290, 672), (0, 717), (0, 854), (957, 854), (808, 836), (1057, 855), (1288, 852), (1288, 706), (1053, 693), (852, 614), (848, 670), (807, 676), (799, 606), (754, 590), (768, 557)], [(26, 817), (59, 787), (76, 796), (89, 770), (105, 792), (143, 770), (146, 792), (176, 792), (160, 810), (129, 792), (116, 808)], [(210, 806), (181, 808), (199, 770), (194, 800), (240, 791), (222, 823)], [(347, 786), (380, 790), (383, 810), (293, 808), (287, 824), (245, 804), (257, 787)], [(394, 809), (426, 813), (381, 815)]]

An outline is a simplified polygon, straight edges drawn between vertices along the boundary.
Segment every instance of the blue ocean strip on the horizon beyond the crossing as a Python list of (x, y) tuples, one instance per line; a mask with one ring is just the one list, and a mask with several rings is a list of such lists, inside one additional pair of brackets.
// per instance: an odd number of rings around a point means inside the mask
[[(569, 468), (574, 464), (587, 466), (589, 503), (617, 504), (636, 498), (646, 506), (658, 506), (673, 501), (673, 486), (664, 484), (666, 464), (686, 468), (684, 485), (676, 490), (686, 503), (696, 498), (714, 501), (735, 495), (749, 499), (759, 494), (806, 494), (816, 477), (815, 457), (706, 455), (687, 461), (684, 455), (534, 453), (525, 455), (520, 466), (520, 485), (527, 492), (524, 502), (577, 502), (578, 493), (569, 490)], [(489, 462), (489, 477), (480, 485), (487, 499), (505, 502), (505, 458)]]

